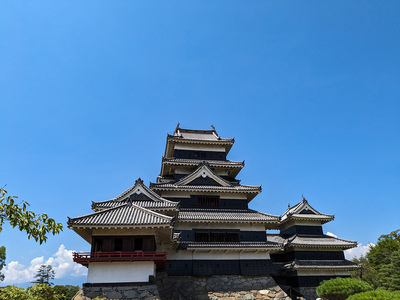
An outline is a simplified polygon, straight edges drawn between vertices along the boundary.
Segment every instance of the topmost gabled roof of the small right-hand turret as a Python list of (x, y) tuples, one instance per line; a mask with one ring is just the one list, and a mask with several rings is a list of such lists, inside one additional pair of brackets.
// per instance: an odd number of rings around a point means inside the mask
[(311, 221), (320, 221), (321, 224), (332, 221), (335, 218), (335, 215), (326, 215), (318, 212), (314, 209), (308, 201), (304, 198), (303, 200), (296, 205), (289, 207), (285, 213), (281, 216), (280, 223), (285, 223), (289, 220), (311, 220)]

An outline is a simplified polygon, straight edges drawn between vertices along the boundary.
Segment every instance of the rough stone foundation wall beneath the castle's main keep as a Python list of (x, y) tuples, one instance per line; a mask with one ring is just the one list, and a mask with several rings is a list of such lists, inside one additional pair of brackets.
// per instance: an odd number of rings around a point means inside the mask
[(290, 300), (271, 276), (214, 275), (207, 277), (157, 274), (154, 284), (83, 287), (89, 299), (140, 300)]

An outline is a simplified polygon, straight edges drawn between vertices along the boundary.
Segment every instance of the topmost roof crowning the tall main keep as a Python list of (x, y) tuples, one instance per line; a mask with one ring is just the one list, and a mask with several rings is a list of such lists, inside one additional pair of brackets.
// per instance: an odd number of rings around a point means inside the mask
[(165, 147), (165, 157), (173, 156), (173, 144), (197, 144), (197, 145), (219, 145), (225, 148), (226, 154), (232, 148), (235, 142), (234, 138), (224, 139), (221, 138), (214, 126), (212, 130), (195, 130), (195, 129), (184, 129), (179, 127), (179, 123), (175, 128), (173, 135), (167, 135), (167, 145)]

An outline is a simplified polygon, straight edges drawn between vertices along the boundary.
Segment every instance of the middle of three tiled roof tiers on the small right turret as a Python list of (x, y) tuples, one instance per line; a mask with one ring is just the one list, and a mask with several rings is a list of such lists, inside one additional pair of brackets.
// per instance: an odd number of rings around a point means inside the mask
[(357, 242), (339, 239), (328, 235), (293, 235), (289, 238), (284, 238), (280, 235), (269, 234), (268, 240), (276, 243), (283, 243), (285, 246), (294, 247), (326, 247), (350, 249), (357, 246)]

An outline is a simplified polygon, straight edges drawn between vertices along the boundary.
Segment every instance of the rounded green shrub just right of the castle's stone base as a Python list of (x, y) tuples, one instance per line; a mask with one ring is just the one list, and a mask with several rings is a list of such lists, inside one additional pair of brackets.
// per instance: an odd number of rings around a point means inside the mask
[(328, 300), (345, 300), (348, 296), (372, 290), (359, 278), (333, 278), (324, 280), (317, 288), (318, 296)]

